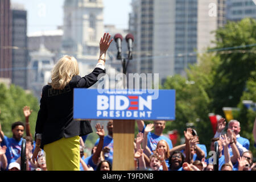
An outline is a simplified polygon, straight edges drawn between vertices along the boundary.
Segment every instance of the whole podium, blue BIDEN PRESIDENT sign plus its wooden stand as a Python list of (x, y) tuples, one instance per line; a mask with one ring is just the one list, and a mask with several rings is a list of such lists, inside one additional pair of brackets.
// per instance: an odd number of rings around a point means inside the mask
[(135, 170), (135, 119), (175, 120), (175, 90), (157, 90), (157, 98), (152, 95), (154, 90), (147, 90), (146, 93), (129, 90), (105, 90), (103, 93), (98, 91), (74, 89), (73, 118), (77, 121), (112, 119), (113, 171)]

